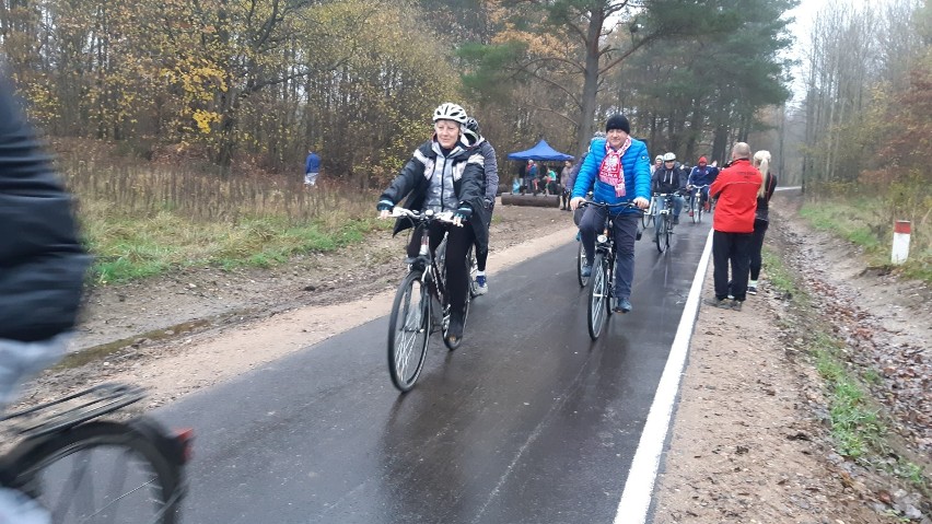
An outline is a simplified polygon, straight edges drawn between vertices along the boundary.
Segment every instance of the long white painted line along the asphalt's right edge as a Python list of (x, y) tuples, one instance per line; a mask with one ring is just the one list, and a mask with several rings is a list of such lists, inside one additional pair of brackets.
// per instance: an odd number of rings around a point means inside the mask
[(669, 357), (663, 370), (657, 393), (648, 414), (638, 451), (631, 461), (631, 470), (628, 471), (628, 480), (625, 481), (625, 490), (621, 492), (621, 501), (618, 503), (618, 512), (615, 514), (615, 524), (643, 524), (648, 517), (651, 506), (651, 496), (656, 481), (657, 468), (661, 455), (666, 443), (666, 433), (669, 430), (669, 419), (673, 415), (673, 406), (676, 394), (679, 391), (679, 380), (683, 377), (683, 368), (686, 364), (686, 354), (689, 351), (689, 340), (692, 338), (692, 328), (696, 325), (696, 315), (699, 311), (699, 299), (702, 293), (702, 281), (706, 278), (706, 268), (709, 266), (709, 257), (712, 253), (712, 231), (706, 241), (706, 248), (696, 268), (696, 278), (689, 289), (683, 316), (679, 318), (679, 327), (669, 350)]

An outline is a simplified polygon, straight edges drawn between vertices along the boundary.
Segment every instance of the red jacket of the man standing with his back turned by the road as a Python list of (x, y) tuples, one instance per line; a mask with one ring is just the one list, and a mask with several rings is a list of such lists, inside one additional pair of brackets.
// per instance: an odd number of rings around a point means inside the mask
[(760, 172), (747, 159), (722, 170), (709, 188), (709, 195), (719, 198), (712, 228), (723, 233), (753, 233), (757, 190), (762, 183)]

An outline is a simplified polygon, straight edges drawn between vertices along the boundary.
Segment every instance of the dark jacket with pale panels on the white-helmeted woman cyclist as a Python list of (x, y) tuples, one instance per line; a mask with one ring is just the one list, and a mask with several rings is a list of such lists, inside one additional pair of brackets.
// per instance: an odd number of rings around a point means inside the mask
[[(476, 243), (480, 246), (488, 245), (489, 235), (484, 224), (490, 221), (491, 210), (485, 206), (485, 159), (478, 150), (469, 150), (457, 145), (456, 149), (444, 158), (440, 153), (440, 144), (434, 140), (427, 141), (415, 150), (411, 160), (401, 168), (401, 173), (392, 181), (388, 188), (380, 197), (398, 203), (407, 197), (404, 207), (408, 209), (422, 210), (427, 205), (428, 188), (431, 177), (434, 176), (434, 166), (439, 162), (451, 163), (451, 175), (453, 176), (453, 189), (459, 205), (468, 205), (473, 209), (473, 216), (468, 224), (476, 233)], [(445, 170), (443, 171), (446, 172)], [(442, 181), (441, 181), (442, 182)], [(450, 209), (456, 211), (456, 209)], [(411, 226), (411, 221), (399, 218), (395, 222), (395, 234)]]

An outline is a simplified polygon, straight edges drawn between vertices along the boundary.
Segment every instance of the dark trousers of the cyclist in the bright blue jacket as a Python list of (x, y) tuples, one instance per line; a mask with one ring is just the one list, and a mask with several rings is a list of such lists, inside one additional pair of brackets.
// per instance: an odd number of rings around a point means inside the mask
[[(585, 249), (586, 260), (592, 259), (595, 252), (595, 237), (602, 234), (605, 226), (606, 208), (590, 207), (585, 209), (580, 220), (580, 238)], [(615, 228), (615, 296), (629, 299), (631, 281), (634, 280), (634, 241), (638, 237), (639, 216), (633, 213), (618, 214), (614, 219)], [(595, 268), (593, 268), (595, 270)], [(747, 273), (747, 270), (745, 270)]]

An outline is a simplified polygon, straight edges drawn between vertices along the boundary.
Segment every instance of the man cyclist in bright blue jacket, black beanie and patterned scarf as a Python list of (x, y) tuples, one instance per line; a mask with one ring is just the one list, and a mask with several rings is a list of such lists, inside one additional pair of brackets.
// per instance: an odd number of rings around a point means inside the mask
[[(651, 161), (644, 142), (630, 136), (631, 125), (625, 115), (615, 115), (605, 125), (605, 139), (593, 140), (589, 154), (582, 162), (573, 185), (570, 208), (574, 211), (585, 194), (593, 191), (599, 203), (622, 205), (632, 202), (640, 209), (650, 206)], [(589, 266), (583, 266), (583, 277), (592, 275), (595, 237), (602, 233), (607, 213), (614, 217), (616, 266), (613, 308), (620, 313), (631, 311), (631, 281), (634, 279), (634, 241), (638, 235), (640, 213), (630, 208), (586, 208), (580, 220), (580, 235)]]

